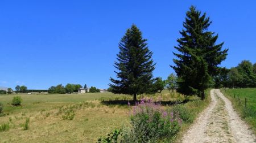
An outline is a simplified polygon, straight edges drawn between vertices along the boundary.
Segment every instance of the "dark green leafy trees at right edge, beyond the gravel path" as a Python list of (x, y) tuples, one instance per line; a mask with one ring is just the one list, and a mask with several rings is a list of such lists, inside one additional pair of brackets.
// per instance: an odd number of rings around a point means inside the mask
[(255, 88), (256, 63), (242, 60), (237, 67), (221, 68), (220, 73), (214, 78), (214, 84), (215, 88)]

